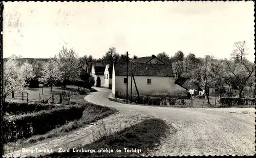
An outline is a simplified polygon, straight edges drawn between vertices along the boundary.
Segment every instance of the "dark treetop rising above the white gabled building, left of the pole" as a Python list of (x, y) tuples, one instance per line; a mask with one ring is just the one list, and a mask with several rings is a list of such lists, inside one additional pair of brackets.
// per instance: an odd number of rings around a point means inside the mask
[(102, 60), (106, 64), (113, 64), (116, 63), (119, 59), (119, 54), (116, 51), (115, 47), (109, 48), (108, 52), (105, 53), (105, 55), (102, 57)]

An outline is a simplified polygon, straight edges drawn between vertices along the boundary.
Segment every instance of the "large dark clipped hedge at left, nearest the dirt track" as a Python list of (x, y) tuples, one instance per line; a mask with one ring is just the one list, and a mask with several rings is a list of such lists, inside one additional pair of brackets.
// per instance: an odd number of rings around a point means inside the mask
[(28, 138), (82, 117), (86, 106), (69, 105), (51, 110), (41, 110), (25, 115), (5, 116), (3, 119), (3, 141), (10, 142), (23, 137)]

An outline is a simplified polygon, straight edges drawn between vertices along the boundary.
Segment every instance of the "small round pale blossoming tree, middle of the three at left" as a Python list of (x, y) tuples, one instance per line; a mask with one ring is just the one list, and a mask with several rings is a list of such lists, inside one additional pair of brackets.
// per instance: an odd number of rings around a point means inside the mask
[(51, 59), (42, 65), (39, 81), (42, 83), (48, 83), (52, 87), (56, 81), (61, 80), (61, 75), (62, 73), (60, 72), (58, 63)]

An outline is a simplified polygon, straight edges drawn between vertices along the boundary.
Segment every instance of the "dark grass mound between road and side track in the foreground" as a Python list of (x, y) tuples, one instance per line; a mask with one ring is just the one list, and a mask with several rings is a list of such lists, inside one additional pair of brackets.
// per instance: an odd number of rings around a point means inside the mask
[[(54, 152), (46, 156), (135, 156), (145, 155), (151, 150), (156, 149), (161, 140), (170, 132), (168, 125), (161, 119), (146, 119), (142, 122), (129, 122), (130, 127), (116, 131), (114, 128), (106, 129), (104, 122), (97, 131), (94, 131), (91, 143), (83, 146), (70, 148), (70, 152)], [(99, 152), (99, 149), (113, 150), (113, 152)], [(138, 149), (137, 152), (125, 152), (126, 149)], [(79, 149), (86, 150), (78, 152)], [(90, 150), (91, 149), (91, 150)], [(116, 149), (121, 150), (117, 152)], [(139, 149), (141, 150), (139, 152)], [(88, 151), (87, 151), (88, 150)], [(94, 150), (94, 151), (93, 151)], [(126, 150), (127, 151), (127, 150)]]

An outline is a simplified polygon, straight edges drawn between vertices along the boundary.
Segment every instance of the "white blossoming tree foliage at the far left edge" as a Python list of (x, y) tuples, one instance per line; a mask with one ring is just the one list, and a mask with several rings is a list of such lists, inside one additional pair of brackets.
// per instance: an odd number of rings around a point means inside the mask
[[(3, 99), (14, 93), (22, 93), (26, 91), (26, 76), (22, 69), (18, 66), (16, 56), (11, 56), (3, 66)], [(23, 67), (24, 70), (24, 67)]]

